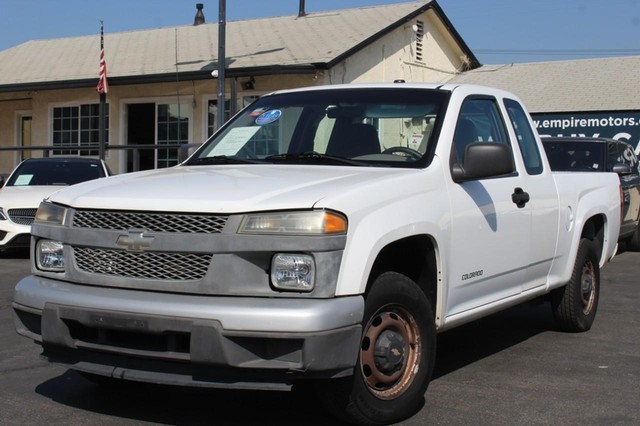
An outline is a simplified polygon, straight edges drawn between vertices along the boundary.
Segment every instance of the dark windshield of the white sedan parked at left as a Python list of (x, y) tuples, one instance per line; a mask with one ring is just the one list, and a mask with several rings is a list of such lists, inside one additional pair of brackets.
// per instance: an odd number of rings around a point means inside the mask
[(27, 160), (13, 172), (7, 186), (74, 185), (104, 176), (97, 161)]

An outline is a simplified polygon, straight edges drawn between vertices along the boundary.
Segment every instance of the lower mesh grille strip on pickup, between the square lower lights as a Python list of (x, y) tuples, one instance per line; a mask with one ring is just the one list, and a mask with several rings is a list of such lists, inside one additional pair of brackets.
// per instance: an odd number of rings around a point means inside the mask
[(199, 280), (205, 276), (212, 254), (129, 252), (74, 248), (78, 269), (92, 274), (150, 280)]

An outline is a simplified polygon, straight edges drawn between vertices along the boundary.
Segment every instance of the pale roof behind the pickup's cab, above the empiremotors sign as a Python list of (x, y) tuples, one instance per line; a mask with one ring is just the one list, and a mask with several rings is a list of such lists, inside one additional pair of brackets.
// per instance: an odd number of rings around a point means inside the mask
[(640, 109), (640, 56), (484, 65), (449, 82), (510, 91), (533, 113)]

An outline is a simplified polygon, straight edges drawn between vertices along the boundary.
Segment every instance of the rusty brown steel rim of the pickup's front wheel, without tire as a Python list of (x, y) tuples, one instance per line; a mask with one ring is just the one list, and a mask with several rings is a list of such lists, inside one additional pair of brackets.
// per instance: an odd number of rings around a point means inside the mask
[(419, 327), (400, 307), (384, 307), (367, 324), (360, 349), (360, 368), (371, 393), (394, 399), (413, 383), (422, 356)]

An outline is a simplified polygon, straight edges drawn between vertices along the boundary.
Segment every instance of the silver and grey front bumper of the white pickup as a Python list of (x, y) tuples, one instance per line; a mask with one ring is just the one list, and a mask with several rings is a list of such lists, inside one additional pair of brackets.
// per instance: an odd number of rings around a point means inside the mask
[(29, 276), (16, 286), (13, 308), (18, 333), (70, 368), (263, 389), (351, 374), (364, 300), (193, 296)]

